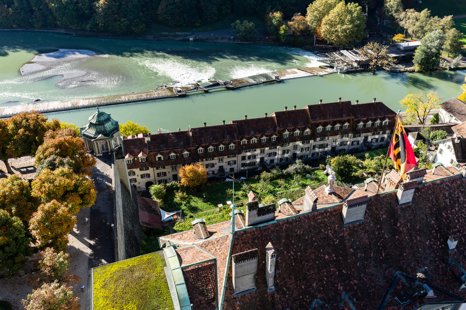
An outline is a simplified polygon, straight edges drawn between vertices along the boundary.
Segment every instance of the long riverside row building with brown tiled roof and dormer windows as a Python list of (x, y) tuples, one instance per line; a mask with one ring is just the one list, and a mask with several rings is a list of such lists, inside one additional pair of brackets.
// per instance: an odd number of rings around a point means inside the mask
[(341, 101), (274, 112), (256, 119), (177, 132), (122, 137), (131, 185), (142, 191), (178, 180), (178, 169), (203, 162), (209, 177), (289, 164), (389, 144), (397, 114), (375, 99)]

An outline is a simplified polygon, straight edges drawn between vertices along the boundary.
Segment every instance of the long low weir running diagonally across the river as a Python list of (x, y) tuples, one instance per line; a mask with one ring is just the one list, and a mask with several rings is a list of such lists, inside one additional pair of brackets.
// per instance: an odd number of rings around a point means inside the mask
[(71, 99), (52, 102), (32, 103), (18, 106), (0, 107), (0, 118), (8, 118), (21, 112), (37, 111), (41, 113), (59, 112), (76, 109), (91, 108), (97, 106), (120, 105), (125, 103), (184, 97), (193, 92), (209, 92), (215, 89), (229, 89), (254, 86), (267, 83), (280, 83), (282, 79), (294, 79), (307, 76), (322, 76), (323, 74), (333, 73), (332, 69), (326, 67), (307, 67), (261, 73), (248, 76), (245, 78), (231, 79), (227, 81), (210, 81), (210, 85), (201, 86), (198, 83), (192, 83), (190, 86), (170, 85), (145, 92), (133, 92), (120, 95), (110, 95), (87, 99)]

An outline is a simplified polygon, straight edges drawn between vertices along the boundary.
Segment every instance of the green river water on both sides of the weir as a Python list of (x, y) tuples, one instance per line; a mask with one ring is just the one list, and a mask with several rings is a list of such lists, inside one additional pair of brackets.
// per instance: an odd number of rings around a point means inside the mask
[[(64, 33), (0, 31), (0, 106), (138, 92), (158, 85), (208, 79), (232, 79), (274, 70), (318, 65), (314, 54), (298, 48), (252, 44), (174, 40), (80, 38)], [(57, 49), (84, 49), (96, 55), (59, 61), (47, 70), (21, 75), (20, 68), (38, 53)], [(66, 73), (66, 74), (63, 74)], [(63, 75), (74, 78), (62, 79)], [(74, 75), (73, 75), (74, 74)], [(174, 131), (219, 125), (269, 115), (288, 106), (342, 100), (383, 101), (397, 111), (408, 93), (438, 91), (444, 99), (458, 97), (466, 71), (432, 73), (332, 73), (322, 77), (284, 80), (281, 84), (235, 91), (189, 95), (186, 98), (106, 106), (120, 123), (127, 120)], [(84, 80), (84, 82), (82, 82)], [(84, 84), (82, 84), (84, 83)], [(84, 86), (81, 86), (84, 85)], [(5, 102), (16, 101), (16, 102)], [(61, 121), (82, 125), (93, 110), (51, 113)]]

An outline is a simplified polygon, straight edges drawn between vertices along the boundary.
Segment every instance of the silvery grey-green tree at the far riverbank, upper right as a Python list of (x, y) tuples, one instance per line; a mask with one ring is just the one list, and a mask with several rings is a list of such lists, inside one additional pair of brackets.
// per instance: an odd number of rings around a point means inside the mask
[(440, 30), (427, 33), (422, 38), (422, 45), (414, 52), (412, 62), (416, 71), (432, 70), (439, 65), (440, 51), (445, 42), (445, 35)]

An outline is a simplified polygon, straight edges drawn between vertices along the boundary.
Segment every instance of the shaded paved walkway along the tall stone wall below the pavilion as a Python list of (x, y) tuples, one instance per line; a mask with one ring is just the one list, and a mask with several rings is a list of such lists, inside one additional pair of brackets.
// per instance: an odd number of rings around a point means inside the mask
[(90, 210), (90, 253), (88, 265), (87, 307), (91, 309), (92, 287), (91, 268), (110, 264), (115, 261), (113, 244), (113, 196), (112, 196), (112, 169), (111, 155), (105, 153), (97, 157), (97, 165), (92, 169), (94, 184), (96, 185), (96, 203)]

